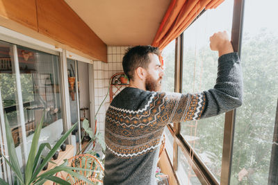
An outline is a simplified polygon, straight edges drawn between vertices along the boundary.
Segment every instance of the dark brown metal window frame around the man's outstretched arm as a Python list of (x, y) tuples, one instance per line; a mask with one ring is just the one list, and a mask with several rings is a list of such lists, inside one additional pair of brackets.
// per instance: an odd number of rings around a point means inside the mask
[[(244, 0), (234, 0), (234, 12), (231, 31), (231, 43), (234, 51), (240, 55), (240, 43), (243, 27), (243, 10)], [(202, 11), (202, 13), (205, 10)], [(197, 17), (199, 18), (199, 16)], [(197, 19), (196, 18), (196, 19)], [(196, 20), (195, 19), (195, 20)], [(195, 21), (194, 20), (194, 21)], [(194, 22), (193, 21), (193, 22)], [(182, 63), (183, 63), (183, 33), (176, 39), (175, 48), (175, 71), (174, 71), (174, 91), (181, 92), (182, 89)], [(234, 124), (235, 124), (236, 110), (232, 110), (225, 114), (224, 120), (224, 138), (223, 138), (223, 151), (222, 151), (222, 171), (220, 182), (221, 184), (229, 184), (231, 177), (231, 159), (233, 152), (234, 141)], [(178, 164), (178, 147), (181, 148), (183, 155), (192, 162), (193, 170), (202, 184), (220, 184), (218, 179), (213, 175), (211, 170), (204, 164), (202, 159), (196, 154), (190, 144), (183, 139), (180, 134), (181, 123), (174, 123), (167, 125), (167, 129), (170, 131), (174, 138), (173, 143), (173, 169), (177, 171)], [(190, 157), (190, 150), (193, 153), (193, 158)]]

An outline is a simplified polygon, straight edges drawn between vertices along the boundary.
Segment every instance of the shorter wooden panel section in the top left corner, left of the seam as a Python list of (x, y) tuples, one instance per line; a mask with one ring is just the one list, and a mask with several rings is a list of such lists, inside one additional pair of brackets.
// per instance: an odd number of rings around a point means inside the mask
[(35, 0), (0, 0), (0, 16), (38, 30)]

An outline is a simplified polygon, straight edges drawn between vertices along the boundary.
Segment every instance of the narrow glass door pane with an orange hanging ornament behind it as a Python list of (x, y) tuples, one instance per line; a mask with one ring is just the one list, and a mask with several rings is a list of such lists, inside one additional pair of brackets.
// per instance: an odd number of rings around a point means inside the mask
[[(67, 78), (69, 80), (69, 91), (70, 91), (70, 118), (72, 125), (78, 121), (78, 105), (77, 105), (77, 95), (76, 95), (76, 69), (75, 69), (75, 60), (67, 59)], [(74, 139), (75, 142), (72, 141), (73, 145), (76, 147), (76, 151), (79, 151), (79, 125), (75, 127), (74, 131), (72, 132), (75, 135)]]

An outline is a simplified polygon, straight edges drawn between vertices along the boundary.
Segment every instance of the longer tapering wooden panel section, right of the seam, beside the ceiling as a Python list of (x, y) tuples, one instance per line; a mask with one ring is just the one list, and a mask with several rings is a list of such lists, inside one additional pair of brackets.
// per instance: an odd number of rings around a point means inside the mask
[(107, 62), (106, 44), (65, 1), (37, 0), (37, 11), (39, 33)]

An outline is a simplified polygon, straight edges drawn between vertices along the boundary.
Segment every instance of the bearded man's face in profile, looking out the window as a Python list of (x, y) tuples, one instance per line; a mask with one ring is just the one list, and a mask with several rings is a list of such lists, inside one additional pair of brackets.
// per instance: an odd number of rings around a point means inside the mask
[(147, 69), (147, 77), (145, 87), (147, 91), (161, 91), (161, 80), (164, 75), (161, 69), (161, 62), (156, 54), (149, 53), (149, 67)]

